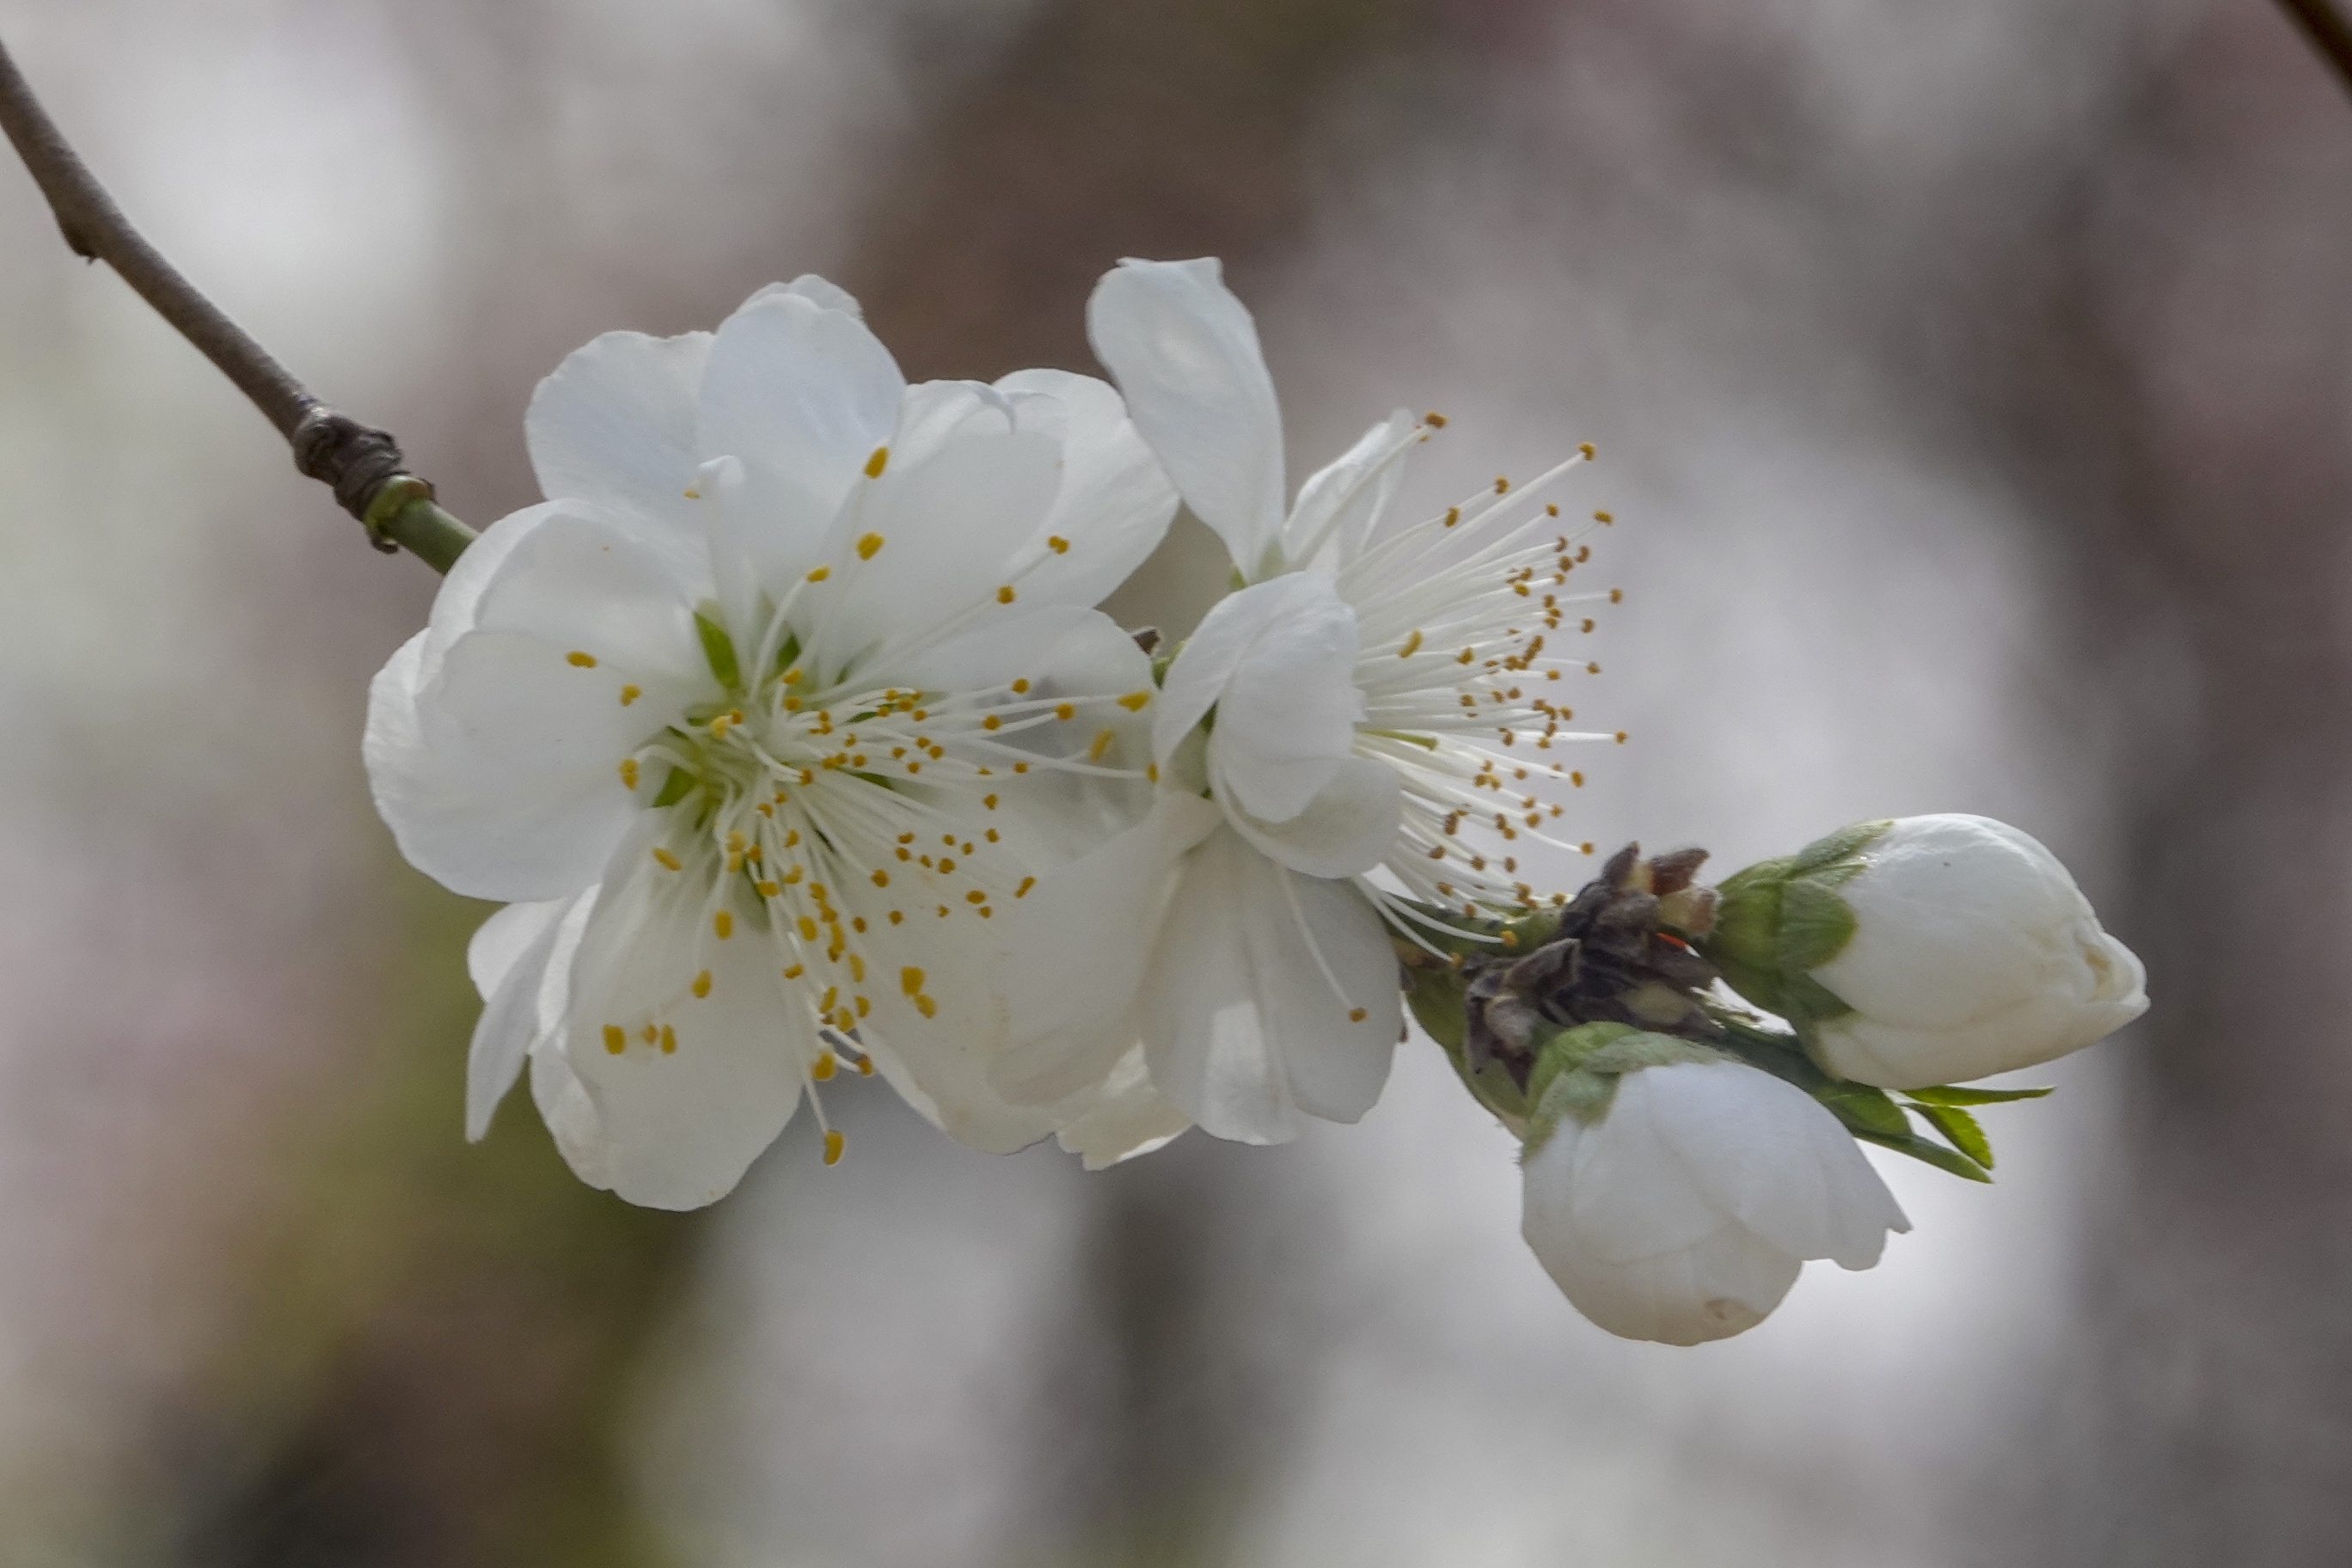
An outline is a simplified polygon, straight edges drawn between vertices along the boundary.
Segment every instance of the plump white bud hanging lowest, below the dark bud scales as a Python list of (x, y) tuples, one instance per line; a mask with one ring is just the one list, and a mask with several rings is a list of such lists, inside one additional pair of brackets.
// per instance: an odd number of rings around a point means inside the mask
[(1519, 1234), (1609, 1333), (1724, 1340), (1764, 1321), (1806, 1258), (1867, 1269), (1889, 1229), (1910, 1229), (1804, 1091), (1691, 1041), (1588, 1030), (1618, 1039), (1552, 1079)]

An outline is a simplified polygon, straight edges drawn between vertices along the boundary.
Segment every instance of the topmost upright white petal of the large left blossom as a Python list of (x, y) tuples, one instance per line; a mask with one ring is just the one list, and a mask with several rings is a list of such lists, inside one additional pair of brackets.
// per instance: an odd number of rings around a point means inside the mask
[(699, 458), (741, 458), (776, 583), (816, 559), (849, 487), (898, 425), (906, 378), (866, 324), (793, 289), (729, 315), (703, 374)]

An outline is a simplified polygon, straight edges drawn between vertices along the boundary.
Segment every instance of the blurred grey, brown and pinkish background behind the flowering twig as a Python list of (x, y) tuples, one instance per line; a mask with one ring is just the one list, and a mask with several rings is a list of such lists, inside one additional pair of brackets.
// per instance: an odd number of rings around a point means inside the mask
[[(2352, 101), (2253, 0), (0, 0), (148, 233), (477, 524), (612, 327), (821, 270), (1091, 369), (1221, 254), (1294, 475), (1592, 440), (1583, 837), (2046, 839), (2157, 1006), (1997, 1187), (1703, 1349), (1583, 1324), (1425, 1041), (1084, 1175), (828, 1100), (699, 1215), (461, 1140), (487, 907), (365, 682), (435, 578), (0, 165), (0, 1563), (2336, 1563)], [(1195, 524), (1115, 607), (1183, 630)], [(1571, 835), (1573, 837), (1573, 835)], [(1550, 867), (1571, 889), (1583, 863)]]

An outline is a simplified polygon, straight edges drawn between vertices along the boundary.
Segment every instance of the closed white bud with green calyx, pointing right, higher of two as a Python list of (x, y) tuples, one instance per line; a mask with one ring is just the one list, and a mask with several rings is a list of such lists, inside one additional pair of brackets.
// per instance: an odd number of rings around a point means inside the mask
[(1708, 957), (1823, 1067), (1879, 1088), (2032, 1067), (2147, 1011), (2140, 959), (2056, 856), (1983, 816), (1865, 823), (1748, 867)]

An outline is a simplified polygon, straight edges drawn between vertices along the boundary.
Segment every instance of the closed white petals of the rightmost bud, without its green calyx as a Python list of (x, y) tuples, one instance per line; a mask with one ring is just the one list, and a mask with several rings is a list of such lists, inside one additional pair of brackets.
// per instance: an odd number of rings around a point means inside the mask
[(1924, 1088), (2011, 1072), (2147, 1011), (2147, 971), (2037, 839), (1983, 816), (1910, 816), (1837, 884), (1853, 936), (1811, 978), (1849, 1013), (1809, 1044), (1830, 1072)]

